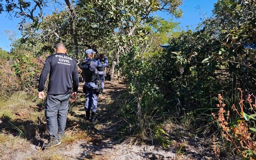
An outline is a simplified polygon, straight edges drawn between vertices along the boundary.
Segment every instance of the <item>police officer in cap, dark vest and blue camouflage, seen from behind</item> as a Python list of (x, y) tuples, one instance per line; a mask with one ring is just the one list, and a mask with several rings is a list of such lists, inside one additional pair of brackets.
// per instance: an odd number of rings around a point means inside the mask
[(84, 92), (86, 95), (85, 100), (85, 111), (86, 120), (95, 121), (95, 112), (97, 110), (98, 95), (100, 93), (100, 82), (99, 82), (99, 67), (107, 66), (108, 61), (106, 55), (103, 57), (103, 63), (94, 59), (94, 52), (92, 49), (85, 51), (87, 58), (82, 62), (81, 69), (83, 77), (85, 79)]

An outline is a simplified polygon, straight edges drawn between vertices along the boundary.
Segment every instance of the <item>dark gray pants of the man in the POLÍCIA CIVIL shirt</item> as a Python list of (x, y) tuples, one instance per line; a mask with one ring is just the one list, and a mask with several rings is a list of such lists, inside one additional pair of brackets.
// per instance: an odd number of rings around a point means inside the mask
[(64, 135), (65, 133), (69, 100), (70, 93), (61, 95), (47, 95), (44, 113), (46, 116), (49, 136), (52, 140), (58, 140), (59, 135)]

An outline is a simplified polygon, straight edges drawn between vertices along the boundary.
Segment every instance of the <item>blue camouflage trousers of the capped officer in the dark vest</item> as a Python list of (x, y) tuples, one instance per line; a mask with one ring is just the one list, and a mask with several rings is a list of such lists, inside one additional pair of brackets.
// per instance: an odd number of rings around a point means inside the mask
[(85, 111), (91, 110), (92, 112), (96, 112), (97, 103), (98, 103), (98, 94), (94, 90), (97, 85), (94, 82), (85, 82), (86, 86), (86, 100), (85, 100)]

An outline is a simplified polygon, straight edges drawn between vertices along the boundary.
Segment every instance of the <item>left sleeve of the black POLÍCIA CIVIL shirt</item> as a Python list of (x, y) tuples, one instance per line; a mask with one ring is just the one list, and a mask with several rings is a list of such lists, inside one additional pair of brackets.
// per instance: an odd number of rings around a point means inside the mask
[(49, 57), (47, 57), (46, 62), (44, 63), (44, 66), (43, 66), (42, 73), (39, 78), (39, 84), (38, 84), (39, 92), (44, 90), (44, 85), (46, 83), (49, 72), (50, 72), (50, 60), (49, 60)]

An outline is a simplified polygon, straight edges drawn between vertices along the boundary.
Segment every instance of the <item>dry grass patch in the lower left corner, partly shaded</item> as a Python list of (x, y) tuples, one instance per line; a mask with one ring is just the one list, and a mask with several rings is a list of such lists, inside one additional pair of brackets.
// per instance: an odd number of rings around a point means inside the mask
[(26, 138), (34, 138), (33, 124), (42, 113), (29, 107), (32, 105), (35, 103), (25, 92), (0, 98), (0, 159), (14, 159), (26, 150)]

